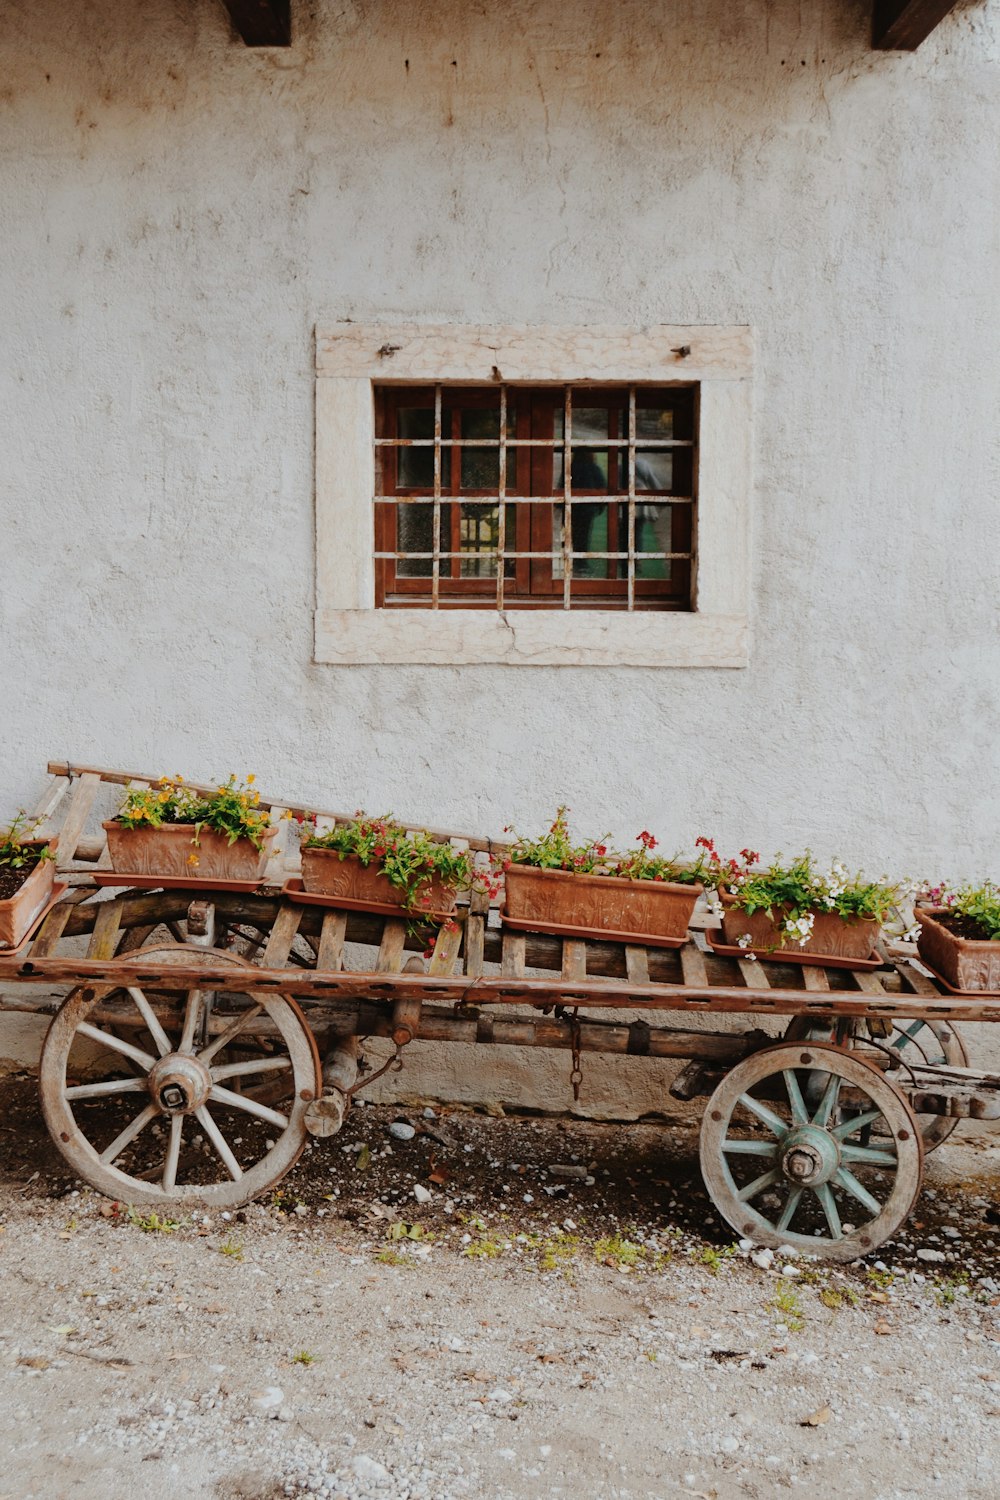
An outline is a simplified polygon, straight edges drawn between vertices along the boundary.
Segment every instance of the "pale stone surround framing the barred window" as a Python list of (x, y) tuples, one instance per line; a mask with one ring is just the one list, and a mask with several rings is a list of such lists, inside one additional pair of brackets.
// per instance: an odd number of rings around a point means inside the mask
[[(753, 330), (316, 328), (315, 658), (342, 666), (742, 668), (748, 662)], [(376, 609), (376, 384), (697, 384), (696, 604)]]

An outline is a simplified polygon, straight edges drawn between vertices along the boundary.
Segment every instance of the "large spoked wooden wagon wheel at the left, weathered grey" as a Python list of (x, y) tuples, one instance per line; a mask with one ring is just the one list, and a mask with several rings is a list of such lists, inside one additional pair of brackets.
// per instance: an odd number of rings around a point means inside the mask
[[(180, 944), (144, 950), (150, 958), (225, 964), (234, 987), (252, 984), (253, 966), (231, 954)], [(79, 987), (66, 998), (42, 1047), (45, 1122), (73, 1172), (109, 1197), (235, 1208), (301, 1155), (306, 1106), (321, 1088), (316, 1044), (286, 996), (226, 990), (208, 1028), (204, 992), (165, 984)], [(94, 1046), (114, 1058), (112, 1077), (85, 1077)]]

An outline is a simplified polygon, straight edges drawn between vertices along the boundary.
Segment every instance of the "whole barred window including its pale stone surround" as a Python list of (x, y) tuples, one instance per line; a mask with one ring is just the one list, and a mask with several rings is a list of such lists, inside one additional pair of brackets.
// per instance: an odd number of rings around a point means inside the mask
[(739, 668), (745, 327), (316, 332), (315, 656)]

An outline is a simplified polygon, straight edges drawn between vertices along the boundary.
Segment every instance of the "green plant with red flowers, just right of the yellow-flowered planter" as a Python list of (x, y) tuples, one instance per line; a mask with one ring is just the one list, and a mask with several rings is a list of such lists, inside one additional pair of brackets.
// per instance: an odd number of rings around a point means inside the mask
[(468, 849), (432, 838), (424, 830), (406, 832), (391, 813), (369, 818), (358, 812), (352, 822), (319, 831), (315, 826), (303, 838), (304, 849), (331, 849), (342, 860), (355, 858), (363, 866), (375, 866), (414, 915), (430, 915), (430, 886), (447, 885), (468, 890), (483, 885), (495, 892), (487, 872), (480, 872)]

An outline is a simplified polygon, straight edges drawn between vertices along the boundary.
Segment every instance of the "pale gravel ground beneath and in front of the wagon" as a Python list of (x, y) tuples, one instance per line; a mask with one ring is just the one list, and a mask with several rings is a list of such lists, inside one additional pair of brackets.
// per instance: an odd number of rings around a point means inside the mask
[(685, 1112), (357, 1108), (177, 1226), (67, 1176), (33, 1080), (0, 1119), (0, 1500), (999, 1492), (996, 1136), (831, 1270), (733, 1245)]

